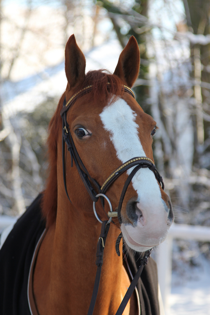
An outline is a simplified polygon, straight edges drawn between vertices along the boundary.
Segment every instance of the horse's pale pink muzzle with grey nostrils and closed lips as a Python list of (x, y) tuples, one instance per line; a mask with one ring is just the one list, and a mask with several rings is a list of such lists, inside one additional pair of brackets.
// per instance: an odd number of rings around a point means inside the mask
[(147, 204), (144, 200), (138, 202), (131, 198), (121, 213), (122, 235), (129, 247), (145, 251), (166, 239), (173, 218), (169, 198), (167, 202), (161, 199), (156, 203), (154, 200), (148, 201)]

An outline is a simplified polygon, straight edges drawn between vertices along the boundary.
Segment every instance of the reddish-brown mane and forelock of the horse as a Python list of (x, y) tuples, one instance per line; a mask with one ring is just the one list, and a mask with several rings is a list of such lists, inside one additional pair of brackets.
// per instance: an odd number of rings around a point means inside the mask
[[(83, 83), (77, 86), (73, 90), (73, 93), (80, 91), (81, 89), (93, 85), (93, 89), (88, 93), (87, 99), (91, 98), (93, 104), (96, 100), (107, 99), (107, 101), (113, 101), (115, 96), (121, 96), (123, 93), (122, 80), (114, 74), (106, 70), (94, 70), (89, 71)], [(113, 97), (113, 95), (115, 95)], [(57, 109), (48, 126), (48, 179), (46, 189), (43, 192), (42, 200), (42, 214), (44, 219), (47, 221), (47, 226), (50, 226), (56, 220), (57, 214), (57, 142), (59, 129), (62, 126), (62, 119), (60, 117), (60, 111), (63, 106), (65, 93), (61, 96)]]

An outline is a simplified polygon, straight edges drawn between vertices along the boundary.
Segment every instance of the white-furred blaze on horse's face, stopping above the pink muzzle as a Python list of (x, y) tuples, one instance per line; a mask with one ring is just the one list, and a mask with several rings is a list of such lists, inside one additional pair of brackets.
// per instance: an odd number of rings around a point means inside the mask
[[(106, 106), (99, 116), (105, 130), (110, 132), (110, 139), (115, 147), (117, 157), (122, 163), (133, 157), (146, 156), (139, 140), (139, 126), (135, 122), (137, 114), (133, 112), (125, 100), (117, 99), (111, 105)], [(130, 174), (132, 169), (133, 167), (128, 169), (127, 173)], [(149, 206), (154, 199), (156, 202), (159, 200), (159, 203), (162, 203), (160, 187), (150, 169), (140, 169), (134, 175), (132, 184), (138, 193), (139, 201), (145, 206)], [(148, 198), (150, 199), (149, 202)]]

